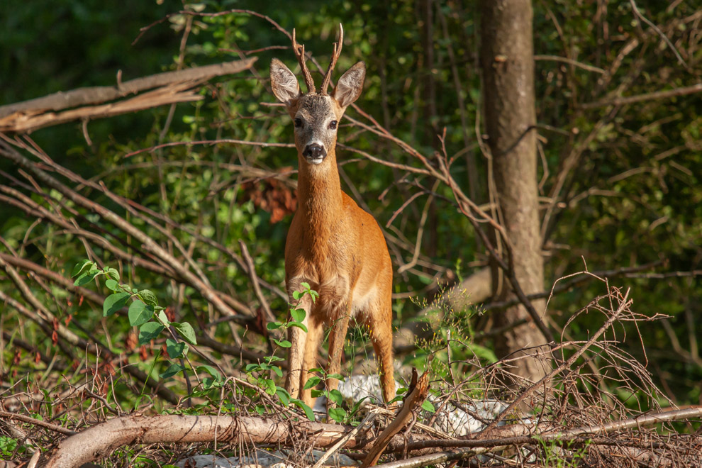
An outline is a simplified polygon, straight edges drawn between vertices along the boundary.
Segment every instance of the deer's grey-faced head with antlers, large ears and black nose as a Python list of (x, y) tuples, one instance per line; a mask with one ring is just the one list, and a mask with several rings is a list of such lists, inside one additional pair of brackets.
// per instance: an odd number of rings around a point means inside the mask
[(327, 88), (336, 61), (341, 53), (344, 30), (339, 25), (339, 42), (334, 44), (332, 60), (324, 76), (321, 91), (317, 92), (312, 74), (306, 65), (305, 46), (296, 42), (293, 30), (293, 50), (303, 72), (307, 93), (303, 94), (297, 78), (283, 62), (271, 62), (271, 86), (273, 94), (285, 107), (295, 124), (295, 146), (301, 162), (321, 165), (327, 155), (334, 154), (336, 130), (347, 106), (361, 94), (366, 66), (358, 62), (339, 79), (331, 95)]

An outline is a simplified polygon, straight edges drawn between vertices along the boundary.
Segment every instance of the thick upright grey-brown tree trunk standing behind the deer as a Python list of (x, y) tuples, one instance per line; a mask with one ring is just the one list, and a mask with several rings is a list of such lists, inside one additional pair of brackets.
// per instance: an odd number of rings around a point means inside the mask
[[(529, 0), (481, 2), (480, 60), (495, 196), (498, 215), (513, 252), (516, 278), (525, 294), (543, 289), (536, 133), (532, 128), (536, 123), (532, 18)], [(513, 293), (504, 279), (498, 281), (496, 264), (492, 269), (496, 298), (507, 299)], [(533, 306), (541, 313), (544, 301), (534, 301)], [(498, 355), (506, 356), (546, 342), (523, 306), (513, 306), (497, 314), (495, 326), (522, 318), (528, 322), (508, 331), (504, 340), (498, 340)], [(537, 360), (527, 358), (516, 363), (516, 374), (522, 377), (538, 379), (545, 373)]]

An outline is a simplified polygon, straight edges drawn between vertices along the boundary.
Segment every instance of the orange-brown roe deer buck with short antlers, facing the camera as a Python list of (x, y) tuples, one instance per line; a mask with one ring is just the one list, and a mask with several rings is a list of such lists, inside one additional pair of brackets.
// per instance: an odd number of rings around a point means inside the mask
[[(289, 329), (291, 347), (285, 388), (293, 398), (312, 406), (311, 389), (304, 389), (317, 367), (317, 352), (325, 329), (329, 331), (326, 389), (338, 389), (333, 376), (341, 370), (341, 357), (351, 318), (369, 330), (386, 403), (395, 397), (392, 352), (392, 263), (385, 238), (373, 216), (362, 210), (341, 189), (336, 160), (339, 122), (346, 108), (362, 91), (364, 62), (357, 62), (328, 93), (333, 69), (341, 54), (343, 28), (334, 44), (330, 65), (317, 91), (306, 65), (305, 46), (292, 48), (307, 87), (302, 93), (293, 72), (274, 58), (270, 67), (274, 96), (294, 122), (297, 149), (298, 208), (285, 243), (285, 285), (289, 302), (303, 291), (302, 283), (318, 292), (313, 301), (303, 294), (296, 308), (306, 316), (301, 328)], [(328, 400), (328, 408), (333, 403)]]

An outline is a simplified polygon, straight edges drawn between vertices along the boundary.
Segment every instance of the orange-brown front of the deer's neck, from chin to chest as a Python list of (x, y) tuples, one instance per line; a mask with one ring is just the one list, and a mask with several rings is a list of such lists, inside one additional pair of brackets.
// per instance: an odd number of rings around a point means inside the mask
[(303, 244), (318, 255), (326, 255), (332, 228), (342, 216), (342, 192), (335, 152), (329, 152), (320, 165), (299, 157), (298, 209), (304, 216)]

